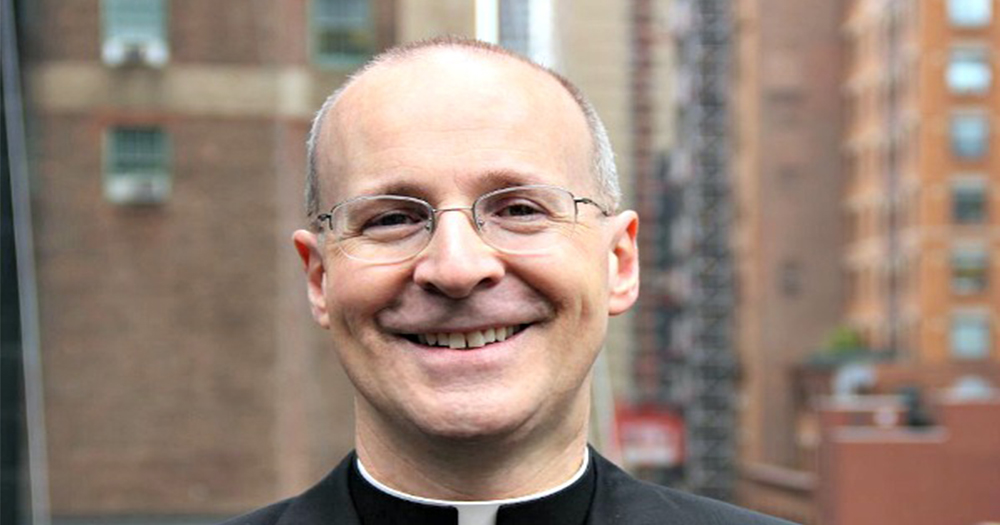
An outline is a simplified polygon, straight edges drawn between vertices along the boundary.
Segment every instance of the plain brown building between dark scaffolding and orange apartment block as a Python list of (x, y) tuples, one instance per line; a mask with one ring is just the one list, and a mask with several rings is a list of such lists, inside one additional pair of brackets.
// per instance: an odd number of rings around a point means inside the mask
[(842, 9), (829, 0), (738, 4), (733, 236), (749, 464), (795, 465), (791, 372), (842, 313)]

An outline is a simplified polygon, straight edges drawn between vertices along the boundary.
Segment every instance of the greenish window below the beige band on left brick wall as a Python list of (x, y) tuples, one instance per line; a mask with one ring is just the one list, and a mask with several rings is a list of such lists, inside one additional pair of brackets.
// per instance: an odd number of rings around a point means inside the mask
[(154, 127), (120, 127), (108, 132), (104, 196), (117, 204), (156, 204), (170, 196), (169, 144)]

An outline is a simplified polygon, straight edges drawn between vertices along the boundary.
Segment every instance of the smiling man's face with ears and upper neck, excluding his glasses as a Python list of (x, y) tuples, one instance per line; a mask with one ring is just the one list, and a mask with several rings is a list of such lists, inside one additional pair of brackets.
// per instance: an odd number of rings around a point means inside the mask
[[(461, 207), (525, 184), (598, 198), (581, 111), (553, 79), (506, 59), (437, 50), (370, 71), (321, 141), (325, 209), (378, 194)], [(608, 315), (635, 299), (635, 229), (631, 212), (581, 206), (577, 226), (540, 254), (495, 250), (464, 212), (440, 215), (427, 248), (393, 264), (348, 258), (306, 232), (296, 243), (314, 315), (360, 394), (359, 424), (466, 439), (584, 424)], [(464, 350), (420, 342), (490, 329), (513, 335)]]

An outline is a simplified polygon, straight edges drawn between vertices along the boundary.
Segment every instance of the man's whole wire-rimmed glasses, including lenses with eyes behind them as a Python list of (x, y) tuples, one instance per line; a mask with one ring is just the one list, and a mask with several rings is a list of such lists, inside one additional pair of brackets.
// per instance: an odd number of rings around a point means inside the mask
[(472, 206), (434, 208), (402, 195), (361, 196), (316, 217), (337, 247), (352, 259), (390, 264), (414, 257), (434, 236), (438, 214), (471, 211), (486, 244), (510, 254), (542, 253), (577, 223), (579, 205), (590, 204), (605, 217), (611, 211), (557, 186), (503, 188), (479, 196)]

